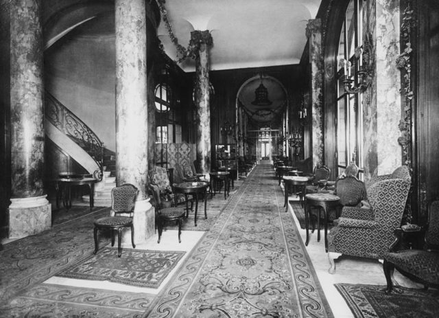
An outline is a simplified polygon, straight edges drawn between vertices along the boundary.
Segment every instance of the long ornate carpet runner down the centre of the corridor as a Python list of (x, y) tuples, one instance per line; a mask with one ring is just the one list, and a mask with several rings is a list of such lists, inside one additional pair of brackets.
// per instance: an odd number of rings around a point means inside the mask
[(144, 317), (333, 317), (283, 198), (257, 166)]

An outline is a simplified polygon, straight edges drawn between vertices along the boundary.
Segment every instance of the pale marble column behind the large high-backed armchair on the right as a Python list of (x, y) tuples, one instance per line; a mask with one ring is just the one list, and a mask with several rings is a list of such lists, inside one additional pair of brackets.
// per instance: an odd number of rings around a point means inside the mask
[(401, 79), (396, 67), (400, 52), (399, 0), (367, 1), (363, 39), (371, 40), (375, 69), (364, 93), (365, 181), (401, 166)]

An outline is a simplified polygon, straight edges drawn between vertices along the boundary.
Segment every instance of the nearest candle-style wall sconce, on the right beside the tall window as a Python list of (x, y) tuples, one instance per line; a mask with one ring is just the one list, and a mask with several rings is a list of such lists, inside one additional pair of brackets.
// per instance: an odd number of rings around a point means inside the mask
[[(361, 59), (361, 65), (357, 71), (357, 80), (351, 78), (351, 62), (344, 60), (344, 91), (348, 94), (362, 93), (366, 91), (370, 83), (372, 83), (372, 74), (374, 69), (373, 47), (370, 41), (370, 34), (366, 35), (362, 47), (355, 48), (355, 60)], [(354, 72), (355, 73), (355, 72)]]

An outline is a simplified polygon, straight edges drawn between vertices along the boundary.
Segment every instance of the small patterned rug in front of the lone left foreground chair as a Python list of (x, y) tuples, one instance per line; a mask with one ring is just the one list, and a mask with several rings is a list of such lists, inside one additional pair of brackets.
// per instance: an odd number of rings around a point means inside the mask
[(57, 276), (158, 288), (183, 255), (184, 251), (123, 249), (123, 258), (118, 258), (117, 248), (105, 247)]

